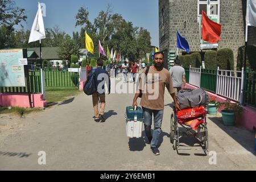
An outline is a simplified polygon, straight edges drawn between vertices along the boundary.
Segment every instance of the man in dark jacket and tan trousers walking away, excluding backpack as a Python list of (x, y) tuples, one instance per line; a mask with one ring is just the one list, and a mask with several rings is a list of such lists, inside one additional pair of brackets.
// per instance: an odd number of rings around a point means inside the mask
[[(96, 122), (105, 122), (104, 111), (106, 106), (106, 96), (105, 96), (105, 84), (108, 85), (108, 94), (110, 94), (110, 77), (106, 70), (102, 69), (103, 60), (99, 58), (97, 60), (97, 68), (93, 69), (90, 72), (89, 78), (95, 78), (96, 84), (96, 92), (92, 93), (93, 98), (93, 110), (94, 110), (94, 121)], [(88, 85), (93, 86), (93, 85)], [(101, 103), (100, 113), (98, 112), (98, 103)]]

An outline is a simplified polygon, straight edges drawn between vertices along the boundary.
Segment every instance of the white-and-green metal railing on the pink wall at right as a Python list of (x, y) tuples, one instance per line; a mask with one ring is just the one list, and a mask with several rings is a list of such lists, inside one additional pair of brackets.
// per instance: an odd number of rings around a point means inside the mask
[[(230, 100), (240, 102), (242, 104), (242, 90), (243, 90), (243, 69), (242, 71), (227, 71), (217, 69), (202, 69), (200, 68), (185, 68), (186, 80), (189, 84), (216, 93), (220, 96), (229, 98)], [(189, 78), (189, 79), (187, 79)], [(248, 90), (247, 97), (252, 97), (255, 93), (255, 86), (250, 88), (250, 85), (255, 83), (255, 78), (247, 79)], [(250, 84), (251, 83), (251, 84)], [(255, 100), (255, 97), (252, 97)], [(253, 104), (255, 105), (255, 101)]]

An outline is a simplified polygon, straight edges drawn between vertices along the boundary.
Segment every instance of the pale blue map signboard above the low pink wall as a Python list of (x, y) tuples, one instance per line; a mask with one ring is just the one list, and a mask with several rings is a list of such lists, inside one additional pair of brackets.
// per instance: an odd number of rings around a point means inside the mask
[(24, 66), (19, 60), (23, 59), (22, 49), (0, 50), (0, 86), (23, 87), (26, 86)]

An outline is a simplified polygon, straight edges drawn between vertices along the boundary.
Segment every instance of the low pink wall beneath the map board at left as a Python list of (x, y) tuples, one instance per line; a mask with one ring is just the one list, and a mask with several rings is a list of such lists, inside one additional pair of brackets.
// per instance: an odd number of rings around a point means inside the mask
[[(43, 100), (43, 94), (31, 94), (32, 107), (47, 107), (47, 101)], [(28, 94), (0, 93), (0, 104), (4, 107), (30, 107)]]

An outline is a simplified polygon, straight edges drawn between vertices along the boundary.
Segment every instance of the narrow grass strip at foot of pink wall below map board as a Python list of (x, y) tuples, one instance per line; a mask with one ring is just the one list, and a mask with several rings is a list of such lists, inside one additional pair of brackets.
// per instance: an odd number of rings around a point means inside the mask
[(8, 107), (0, 107), (0, 114), (18, 114), (20, 116), (24, 115), (24, 114), (29, 114), (32, 112), (37, 112), (37, 111), (41, 111), (41, 108), (23, 108), (23, 107), (11, 107), (11, 109), (9, 109)]

